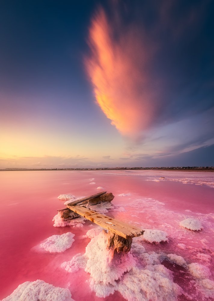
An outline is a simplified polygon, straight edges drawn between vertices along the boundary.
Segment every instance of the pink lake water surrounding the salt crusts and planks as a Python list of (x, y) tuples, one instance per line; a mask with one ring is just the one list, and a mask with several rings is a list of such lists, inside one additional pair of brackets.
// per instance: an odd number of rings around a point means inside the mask
[[(90, 184), (91, 178), (96, 184)], [(9, 296), (25, 281), (41, 279), (56, 287), (69, 288), (76, 301), (125, 300), (118, 292), (99, 298), (90, 290), (90, 274), (81, 269), (68, 273), (61, 268), (62, 262), (71, 260), (77, 253), (85, 253), (90, 239), (83, 236), (92, 228), (92, 223), (87, 221), (82, 227), (53, 227), (52, 219), (65, 201), (57, 197), (60, 194), (88, 196), (98, 193), (98, 186), (115, 196), (112, 203), (116, 208), (106, 215), (142, 229), (168, 233), (168, 243), (144, 243), (147, 252), (173, 253), (182, 256), (188, 264), (204, 265), (211, 272), (209, 279), (214, 280), (213, 172), (17, 171), (1, 172), (0, 183), (0, 299)], [(180, 227), (179, 222), (187, 218), (198, 219), (203, 230)], [(75, 241), (63, 253), (42, 253), (34, 249), (47, 237), (69, 231), (75, 234)], [(184, 244), (185, 249), (178, 244)], [(211, 257), (207, 259), (206, 255)], [(174, 282), (185, 291), (178, 300), (213, 300), (212, 296), (196, 293), (197, 280), (187, 270), (169, 262), (163, 264), (173, 272)]]

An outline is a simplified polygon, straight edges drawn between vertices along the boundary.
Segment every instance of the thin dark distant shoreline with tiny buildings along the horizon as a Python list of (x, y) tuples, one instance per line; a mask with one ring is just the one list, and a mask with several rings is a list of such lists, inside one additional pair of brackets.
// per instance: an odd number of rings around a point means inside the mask
[(206, 167), (102, 167), (102, 168), (5, 168), (0, 171), (59, 171), (59, 170), (79, 170), (79, 171), (93, 171), (93, 170), (185, 170), (185, 171), (212, 171), (214, 172), (214, 166)]

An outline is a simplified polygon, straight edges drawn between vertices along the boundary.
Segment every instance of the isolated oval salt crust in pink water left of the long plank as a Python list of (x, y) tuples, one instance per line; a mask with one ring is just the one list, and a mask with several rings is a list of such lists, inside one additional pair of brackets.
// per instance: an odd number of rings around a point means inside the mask
[(52, 235), (48, 237), (39, 247), (50, 253), (60, 253), (69, 249), (73, 242), (75, 234), (71, 232), (62, 235)]

